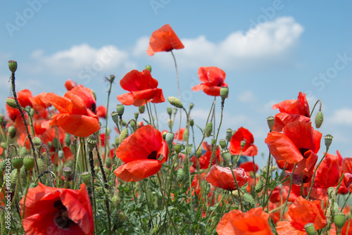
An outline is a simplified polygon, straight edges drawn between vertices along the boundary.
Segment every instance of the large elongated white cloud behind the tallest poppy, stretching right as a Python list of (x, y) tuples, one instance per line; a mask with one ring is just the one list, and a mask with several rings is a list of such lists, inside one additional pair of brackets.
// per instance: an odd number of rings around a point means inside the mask
[[(232, 32), (218, 43), (210, 42), (201, 35), (194, 39), (181, 39), (184, 49), (175, 51), (177, 63), (182, 68), (199, 66), (219, 66), (221, 68), (253, 68), (260, 63), (284, 58), (298, 42), (303, 26), (292, 17), (282, 17), (256, 25), (243, 33)], [(149, 39), (137, 41), (134, 55), (146, 56)], [(170, 64), (168, 53), (157, 53), (153, 60)]]

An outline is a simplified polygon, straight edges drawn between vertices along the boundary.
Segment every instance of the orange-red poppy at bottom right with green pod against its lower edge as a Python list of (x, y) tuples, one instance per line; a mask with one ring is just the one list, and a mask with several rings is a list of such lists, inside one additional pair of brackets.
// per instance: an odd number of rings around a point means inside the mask
[(306, 234), (304, 225), (313, 223), (315, 230), (327, 226), (327, 219), (321, 207), (320, 201), (306, 201), (299, 196), (287, 210), (289, 221), (277, 222), (277, 234)]

